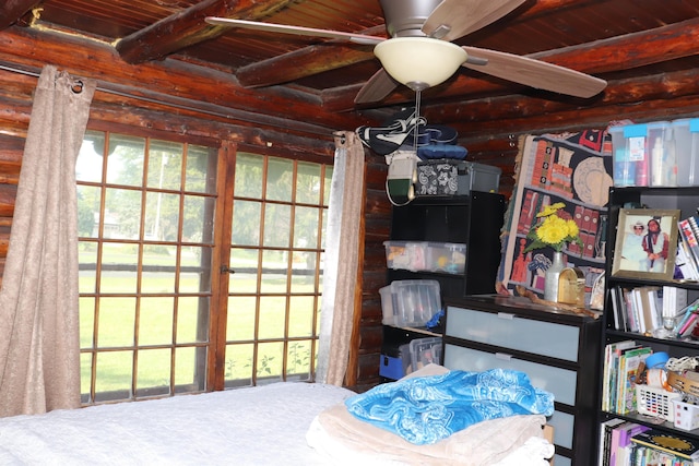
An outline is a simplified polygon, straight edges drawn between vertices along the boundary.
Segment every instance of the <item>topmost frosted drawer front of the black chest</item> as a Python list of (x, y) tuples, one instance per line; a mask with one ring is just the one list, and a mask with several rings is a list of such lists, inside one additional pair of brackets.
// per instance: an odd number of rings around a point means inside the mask
[(447, 312), (446, 335), (578, 361), (580, 328), (577, 326), (451, 306)]

